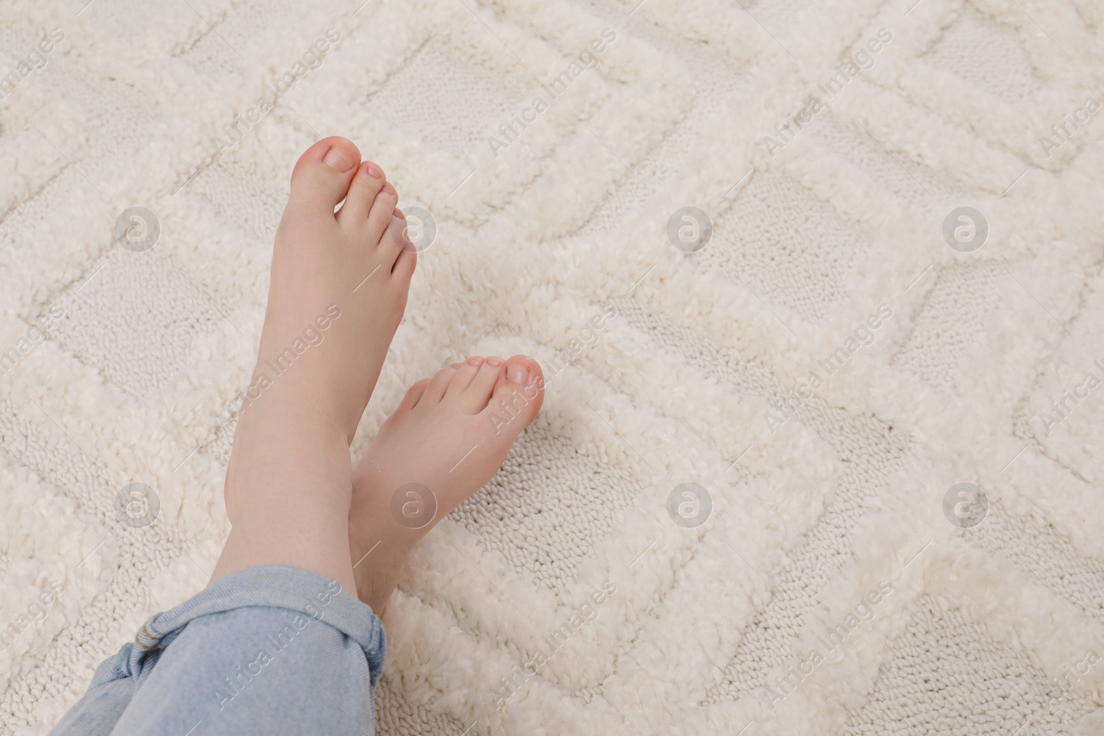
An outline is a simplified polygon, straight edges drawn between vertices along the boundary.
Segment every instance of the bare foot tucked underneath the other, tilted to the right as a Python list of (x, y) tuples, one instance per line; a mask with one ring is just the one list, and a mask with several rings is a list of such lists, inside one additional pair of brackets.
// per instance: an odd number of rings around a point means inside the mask
[(543, 401), (541, 367), (527, 355), (469, 358), (406, 392), (353, 469), (353, 577), (378, 615), (414, 545), (491, 479)]

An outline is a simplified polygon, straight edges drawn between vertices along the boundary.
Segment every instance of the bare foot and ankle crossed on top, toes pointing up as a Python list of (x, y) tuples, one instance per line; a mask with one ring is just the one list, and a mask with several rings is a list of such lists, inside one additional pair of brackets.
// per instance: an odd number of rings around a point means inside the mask
[(296, 163), (226, 470), (234, 527), (214, 577), (289, 564), (351, 582), (348, 553), (347, 572), (333, 564), (346, 543), (317, 540), (347, 525), (349, 441), (406, 306), (416, 257), (396, 204), (383, 171), (344, 138)]

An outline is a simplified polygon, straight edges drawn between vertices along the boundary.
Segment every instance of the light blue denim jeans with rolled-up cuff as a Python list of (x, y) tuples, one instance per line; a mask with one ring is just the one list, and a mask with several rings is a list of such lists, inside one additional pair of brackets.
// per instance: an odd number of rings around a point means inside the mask
[(380, 619), (335, 580), (253, 567), (150, 618), (52, 733), (371, 736), (384, 654)]

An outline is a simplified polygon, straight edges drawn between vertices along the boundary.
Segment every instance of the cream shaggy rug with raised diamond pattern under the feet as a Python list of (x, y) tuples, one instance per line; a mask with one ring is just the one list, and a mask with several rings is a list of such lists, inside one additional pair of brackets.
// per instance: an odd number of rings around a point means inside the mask
[(423, 248), (354, 456), (446, 362), (549, 376), (380, 734), (1104, 733), (1098, 2), (0, 8), (3, 733), (206, 583), (335, 134)]

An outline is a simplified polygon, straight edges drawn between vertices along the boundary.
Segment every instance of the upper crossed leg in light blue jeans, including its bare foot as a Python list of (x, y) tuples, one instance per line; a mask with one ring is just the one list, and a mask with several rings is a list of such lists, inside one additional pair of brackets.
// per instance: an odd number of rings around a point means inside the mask
[(299, 159), (212, 582), (105, 661), (55, 733), (372, 732), (384, 643), (379, 618), (347, 593), (349, 438), (414, 271), (396, 203), (343, 138)]

